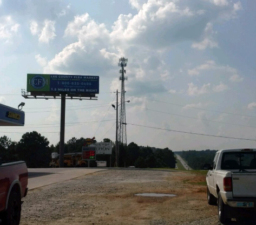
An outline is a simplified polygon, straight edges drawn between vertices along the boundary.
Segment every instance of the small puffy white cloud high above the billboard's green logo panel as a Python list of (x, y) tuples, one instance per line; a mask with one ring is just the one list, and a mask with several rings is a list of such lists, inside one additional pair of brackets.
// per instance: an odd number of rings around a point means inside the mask
[(56, 37), (55, 21), (45, 19), (44, 24), (38, 24), (36, 21), (30, 22), (30, 31), (32, 35), (37, 35), (39, 42), (49, 43)]

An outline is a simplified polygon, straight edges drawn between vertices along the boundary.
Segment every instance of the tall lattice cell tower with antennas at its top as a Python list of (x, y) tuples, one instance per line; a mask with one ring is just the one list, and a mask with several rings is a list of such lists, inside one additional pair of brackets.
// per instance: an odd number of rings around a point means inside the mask
[(120, 113), (119, 113), (119, 137), (118, 141), (119, 144), (127, 145), (126, 141), (126, 104), (125, 104), (125, 97), (124, 97), (124, 80), (127, 80), (127, 77), (124, 76), (126, 74), (126, 70), (124, 70), (124, 67), (126, 67), (128, 62), (128, 59), (122, 57), (119, 59), (119, 66), (121, 67), (121, 70), (119, 73), (121, 73), (121, 76), (119, 77), (119, 80), (121, 80), (121, 98), (120, 98)]

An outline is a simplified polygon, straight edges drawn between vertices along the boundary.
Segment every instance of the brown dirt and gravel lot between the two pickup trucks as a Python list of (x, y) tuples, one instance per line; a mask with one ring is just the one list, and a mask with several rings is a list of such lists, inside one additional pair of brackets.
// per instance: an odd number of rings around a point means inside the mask
[(22, 204), (21, 225), (220, 224), (216, 206), (207, 204), (204, 181), (205, 175), (191, 172), (101, 171), (31, 190)]

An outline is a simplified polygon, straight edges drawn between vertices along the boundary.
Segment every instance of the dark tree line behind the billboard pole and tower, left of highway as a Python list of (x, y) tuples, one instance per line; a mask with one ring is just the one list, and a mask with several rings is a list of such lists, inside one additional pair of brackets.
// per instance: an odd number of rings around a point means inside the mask
[[(86, 138), (71, 138), (64, 145), (64, 153), (81, 152)], [(112, 145), (112, 154), (96, 155), (96, 160), (110, 161), (111, 167), (115, 166), (115, 142), (108, 138), (104, 142)], [(96, 142), (96, 140), (95, 140)], [(29, 168), (49, 167), (51, 153), (60, 151), (60, 142), (50, 145), (47, 138), (40, 133), (33, 131), (22, 135), (18, 142), (12, 141), (4, 135), (0, 137), (0, 158), (2, 161), (24, 160)], [(111, 157), (111, 160), (109, 160)], [(129, 145), (119, 145), (119, 167), (135, 166), (137, 168), (169, 167), (175, 168), (175, 157), (169, 148), (152, 148), (138, 146), (134, 142)]]

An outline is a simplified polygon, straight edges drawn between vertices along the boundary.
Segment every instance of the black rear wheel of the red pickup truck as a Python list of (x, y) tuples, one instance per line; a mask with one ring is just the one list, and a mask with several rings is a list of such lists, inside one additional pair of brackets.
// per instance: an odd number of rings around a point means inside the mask
[(15, 192), (11, 191), (8, 207), (4, 212), (3, 224), (6, 225), (18, 225), (21, 220), (21, 196)]

